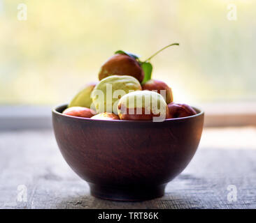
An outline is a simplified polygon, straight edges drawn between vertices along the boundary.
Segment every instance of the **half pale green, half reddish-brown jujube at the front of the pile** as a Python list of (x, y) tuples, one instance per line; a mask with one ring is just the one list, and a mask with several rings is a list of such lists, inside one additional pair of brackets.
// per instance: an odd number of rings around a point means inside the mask
[[(148, 103), (145, 102), (146, 98), (148, 98)], [(132, 103), (129, 104), (130, 102)], [(127, 93), (118, 103), (118, 116), (121, 120), (152, 120), (160, 114), (164, 114), (162, 121), (168, 118), (168, 107), (162, 95), (154, 91)]]

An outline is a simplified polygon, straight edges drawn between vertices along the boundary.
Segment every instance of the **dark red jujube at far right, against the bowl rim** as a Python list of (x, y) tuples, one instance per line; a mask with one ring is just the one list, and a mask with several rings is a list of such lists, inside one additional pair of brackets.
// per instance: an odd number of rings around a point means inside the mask
[(171, 102), (168, 104), (169, 118), (182, 118), (193, 116), (197, 112), (190, 105)]

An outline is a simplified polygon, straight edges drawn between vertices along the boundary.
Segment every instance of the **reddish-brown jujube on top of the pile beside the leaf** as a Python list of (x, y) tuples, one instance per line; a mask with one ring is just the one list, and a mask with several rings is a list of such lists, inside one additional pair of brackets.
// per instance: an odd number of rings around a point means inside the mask
[(115, 54), (101, 66), (99, 80), (111, 75), (130, 75), (142, 82), (144, 72), (136, 59), (125, 54)]

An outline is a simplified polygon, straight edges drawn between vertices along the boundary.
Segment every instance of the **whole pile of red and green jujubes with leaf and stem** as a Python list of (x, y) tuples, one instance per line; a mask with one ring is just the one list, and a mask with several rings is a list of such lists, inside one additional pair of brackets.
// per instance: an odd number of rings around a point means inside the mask
[[(87, 84), (62, 113), (101, 120), (153, 120), (162, 113), (164, 119), (197, 114), (189, 105), (173, 102), (170, 86), (161, 80), (151, 79), (150, 59), (173, 45), (178, 43), (160, 49), (145, 61), (140, 61), (135, 54), (118, 50), (101, 66), (99, 82)], [(143, 97), (149, 98), (149, 102), (145, 99), (140, 103), (130, 102), (134, 99), (138, 102)]]

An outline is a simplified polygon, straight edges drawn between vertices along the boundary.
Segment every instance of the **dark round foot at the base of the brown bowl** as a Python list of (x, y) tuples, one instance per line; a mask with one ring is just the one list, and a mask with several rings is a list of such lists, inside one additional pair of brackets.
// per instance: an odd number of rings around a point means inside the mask
[(89, 183), (92, 196), (113, 201), (145, 201), (164, 196), (166, 184), (155, 186), (111, 187)]

